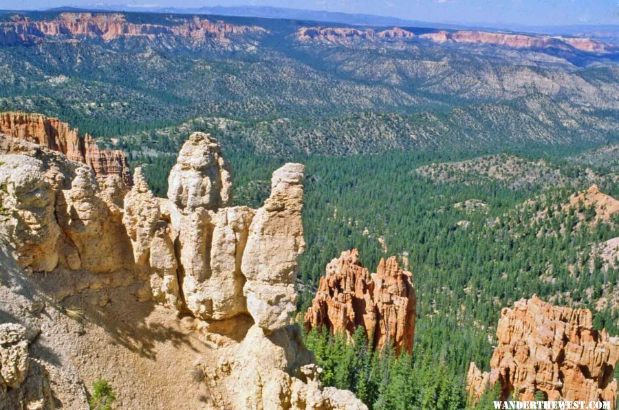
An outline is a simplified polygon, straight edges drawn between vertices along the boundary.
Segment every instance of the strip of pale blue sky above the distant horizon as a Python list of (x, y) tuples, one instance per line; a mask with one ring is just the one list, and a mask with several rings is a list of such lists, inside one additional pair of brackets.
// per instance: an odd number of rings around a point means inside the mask
[(271, 5), (444, 23), (619, 24), (619, 0), (0, 0), (0, 9), (45, 9), (100, 2), (151, 8)]

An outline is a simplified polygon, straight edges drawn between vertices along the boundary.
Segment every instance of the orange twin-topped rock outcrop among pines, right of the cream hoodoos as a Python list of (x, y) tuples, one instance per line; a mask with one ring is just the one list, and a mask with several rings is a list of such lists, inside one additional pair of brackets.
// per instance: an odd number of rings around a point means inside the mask
[(381, 259), (370, 274), (356, 249), (327, 264), (316, 297), (305, 313), (308, 329), (326, 326), (332, 332), (354, 334), (365, 328), (374, 348), (391, 343), (396, 352), (412, 352), (417, 298), (412, 274), (392, 256)]

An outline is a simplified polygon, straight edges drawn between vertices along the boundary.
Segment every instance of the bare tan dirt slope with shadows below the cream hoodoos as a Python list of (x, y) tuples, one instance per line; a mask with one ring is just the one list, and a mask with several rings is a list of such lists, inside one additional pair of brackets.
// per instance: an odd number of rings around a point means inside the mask
[[(87, 409), (86, 389), (97, 378), (111, 383), (120, 409), (210, 407), (198, 362), (213, 352), (196, 319), (138, 301), (132, 278), (122, 278), (129, 273), (25, 275), (6, 248), (0, 258), (0, 322), (29, 330), (30, 355), (49, 372), (56, 407)], [(99, 288), (101, 280), (118, 286)], [(58, 301), (69, 291), (76, 294)]]

